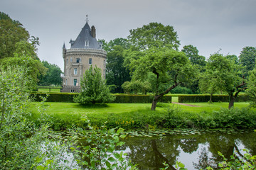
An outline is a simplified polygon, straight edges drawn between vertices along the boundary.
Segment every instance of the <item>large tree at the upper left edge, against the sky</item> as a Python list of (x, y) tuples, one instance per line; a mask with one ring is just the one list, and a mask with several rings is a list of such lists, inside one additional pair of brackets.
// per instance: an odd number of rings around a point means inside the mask
[(47, 70), (36, 54), (36, 45), (39, 45), (38, 38), (30, 38), (20, 22), (0, 12), (0, 65), (4, 68), (26, 67), (34, 86)]

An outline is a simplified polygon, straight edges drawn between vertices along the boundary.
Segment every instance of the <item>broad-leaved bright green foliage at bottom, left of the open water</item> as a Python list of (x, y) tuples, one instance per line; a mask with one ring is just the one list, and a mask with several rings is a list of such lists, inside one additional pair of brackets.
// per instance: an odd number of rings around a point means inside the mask
[[(90, 123), (88, 127), (92, 129)], [(115, 152), (116, 147), (124, 145), (119, 140), (126, 137), (121, 134), (123, 131), (122, 128), (107, 130), (103, 125), (99, 130), (92, 130), (90, 137), (87, 137), (88, 131), (78, 128), (78, 134), (86, 137), (85, 143), (71, 148), (77, 156), (78, 164), (85, 169), (137, 169), (125, 160), (127, 154)]]

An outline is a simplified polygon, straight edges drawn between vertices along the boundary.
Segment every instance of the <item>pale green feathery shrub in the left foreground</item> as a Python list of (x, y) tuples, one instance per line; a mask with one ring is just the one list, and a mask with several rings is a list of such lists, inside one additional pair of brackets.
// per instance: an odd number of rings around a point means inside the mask
[(30, 169), (47, 136), (47, 125), (36, 128), (28, 120), (31, 80), (26, 75), (21, 67), (0, 67), (0, 169)]

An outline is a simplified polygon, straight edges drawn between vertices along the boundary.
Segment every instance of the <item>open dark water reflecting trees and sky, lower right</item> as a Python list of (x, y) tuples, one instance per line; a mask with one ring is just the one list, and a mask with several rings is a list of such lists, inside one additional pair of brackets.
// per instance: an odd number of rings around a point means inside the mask
[(218, 151), (229, 158), (241, 149), (256, 153), (255, 132), (204, 132), (201, 135), (169, 135), (160, 137), (128, 137), (120, 149), (129, 150), (128, 155), (139, 169), (163, 168), (163, 162), (174, 169), (176, 160), (183, 162), (188, 169), (205, 169), (220, 161)]

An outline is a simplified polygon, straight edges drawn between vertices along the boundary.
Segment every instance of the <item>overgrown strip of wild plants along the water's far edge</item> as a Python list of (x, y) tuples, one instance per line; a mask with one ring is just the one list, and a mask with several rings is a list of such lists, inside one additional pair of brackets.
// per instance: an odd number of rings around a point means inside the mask
[[(165, 104), (165, 103), (164, 103)], [(163, 105), (163, 103), (160, 103)], [(37, 115), (39, 116), (39, 115)], [(47, 120), (53, 130), (67, 130), (75, 125), (86, 128), (80, 114), (53, 114)], [(256, 128), (256, 111), (249, 108), (221, 109), (213, 113), (188, 113), (173, 106), (166, 111), (139, 110), (126, 113), (89, 113), (87, 118), (93, 127), (147, 129), (154, 128)], [(36, 118), (33, 118), (36, 120)], [(107, 122), (107, 123), (106, 123)], [(40, 125), (41, 122), (37, 122)]]

